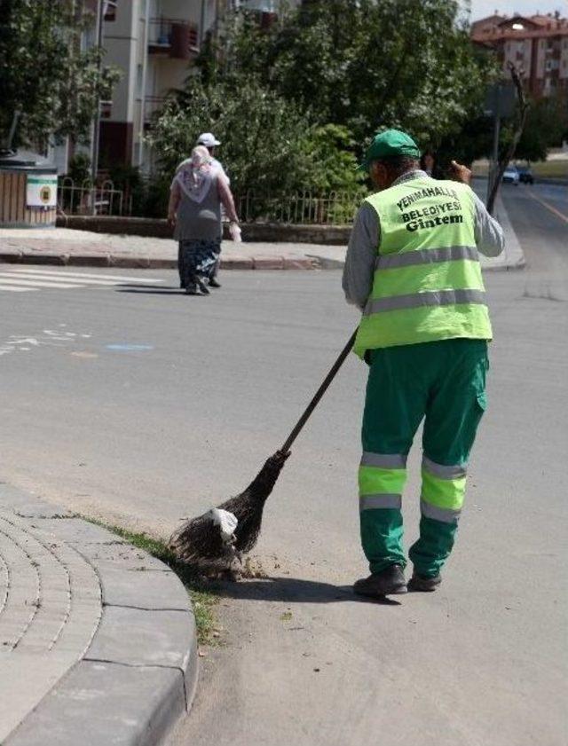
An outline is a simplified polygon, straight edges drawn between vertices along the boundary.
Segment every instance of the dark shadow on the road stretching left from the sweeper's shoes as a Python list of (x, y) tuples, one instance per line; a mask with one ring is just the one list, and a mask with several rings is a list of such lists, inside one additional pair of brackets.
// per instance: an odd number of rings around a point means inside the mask
[(351, 585), (331, 585), (296, 577), (267, 577), (259, 580), (241, 580), (239, 583), (223, 582), (214, 593), (225, 598), (242, 601), (286, 601), (288, 603), (335, 603), (351, 601), (400, 606), (391, 598), (367, 599), (356, 596)]

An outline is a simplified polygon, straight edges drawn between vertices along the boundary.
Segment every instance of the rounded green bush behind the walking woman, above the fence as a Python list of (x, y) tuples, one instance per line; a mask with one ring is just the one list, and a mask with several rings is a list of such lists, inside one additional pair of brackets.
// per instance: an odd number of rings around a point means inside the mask
[(223, 143), (223, 163), (235, 189), (281, 193), (356, 188), (357, 161), (346, 147), (350, 133), (318, 128), (256, 77), (203, 85), (190, 78), (162, 110), (148, 137), (162, 172), (173, 174), (191, 153), (200, 132), (213, 130)]

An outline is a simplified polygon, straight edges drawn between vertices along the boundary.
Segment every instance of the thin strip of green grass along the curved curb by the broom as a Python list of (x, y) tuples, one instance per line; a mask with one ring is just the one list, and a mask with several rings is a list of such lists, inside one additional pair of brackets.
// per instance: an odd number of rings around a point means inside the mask
[(197, 576), (185, 562), (179, 561), (177, 556), (160, 539), (148, 536), (145, 533), (135, 533), (122, 529), (121, 526), (113, 526), (104, 521), (89, 518), (86, 515), (80, 517), (85, 521), (96, 523), (103, 529), (112, 531), (117, 536), (126, 539), (132, 546), (152, 554), (157, 560), (168, 565), (185, 585), (192, 600), (195, 626), (197, 627), (197, 641), (200, 645), (215, 645), (218, 642), (217, 618), (214, 608), (219, 598), (215, 593), (211, 593), (209, 582), (204, 583), (201, 577)]

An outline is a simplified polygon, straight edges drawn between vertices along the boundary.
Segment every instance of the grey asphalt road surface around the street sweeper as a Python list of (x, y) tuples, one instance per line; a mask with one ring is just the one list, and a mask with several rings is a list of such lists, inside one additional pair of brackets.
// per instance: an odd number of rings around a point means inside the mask
[[(225, 645), (202, 659), (177, 744), (566, 742), (563, 195), (503, 190), (528, 267), (486, 276), (489, 410), (440, 591), (383, 605), (351, 596), (366, 573), (366, 371), (351, 358), (267, 506), (257, 554), (271, 579), (225, 591)], [(12, 349), (0, 355), (0, 478), (166, 535), (256, 474), (357, 316), (335, 271), (225, 273), (209, 298), (178, 294), (173, 272), (144, 276), (164, 283), (0, 294), (0, 352)], [(414, 449), (407, 546), (419, 459)]]

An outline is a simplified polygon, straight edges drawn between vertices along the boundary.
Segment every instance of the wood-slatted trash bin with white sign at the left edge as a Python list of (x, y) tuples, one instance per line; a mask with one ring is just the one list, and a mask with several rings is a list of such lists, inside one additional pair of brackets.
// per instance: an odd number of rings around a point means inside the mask
[(57, 168), (38, 153), (0, 152), (0, 228), (46, 228), (57, 217)]

